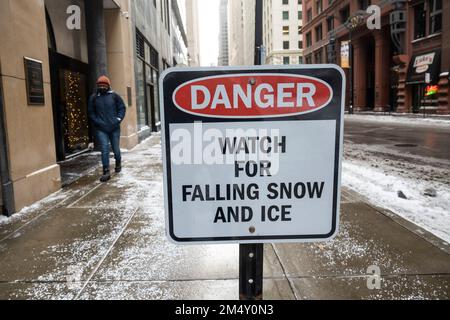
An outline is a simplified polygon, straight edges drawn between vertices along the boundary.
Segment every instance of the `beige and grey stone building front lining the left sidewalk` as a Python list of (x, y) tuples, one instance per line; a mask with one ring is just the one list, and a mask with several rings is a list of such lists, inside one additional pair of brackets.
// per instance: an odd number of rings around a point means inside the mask
[(0, 1), (2, 213), (58, 191), (60, 163), (95, 143), (87, 102), (100, 75), (127, 105), (122, 148), (159, 130), (159, 74), (187, 64), (176, 8), (172, 0)]

